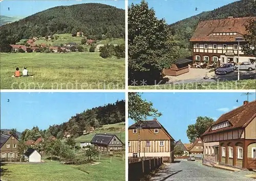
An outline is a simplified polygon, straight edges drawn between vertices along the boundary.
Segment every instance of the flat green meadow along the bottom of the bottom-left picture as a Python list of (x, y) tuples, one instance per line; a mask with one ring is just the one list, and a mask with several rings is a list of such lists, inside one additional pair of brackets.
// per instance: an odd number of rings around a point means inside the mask
[(110, 163), (109, 156), (101, 156), (95, 160), (100, 164), (64, 165), (59, 162), (42, 164), (7, 164), (1, 173), (5, 181), (33, 180), (33, 181), (112, 181), (125, 180), (125, 161), (122, 157), (114, 156)]

